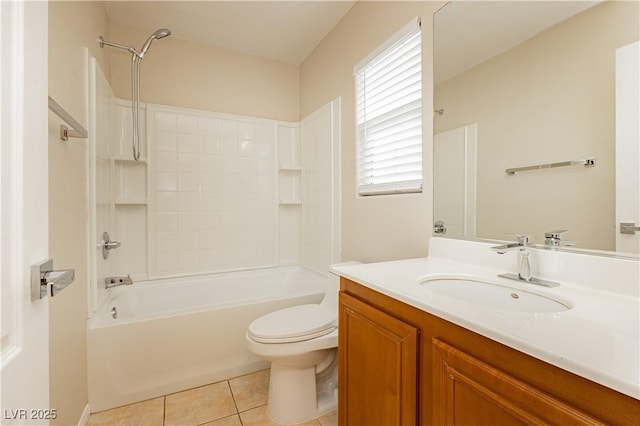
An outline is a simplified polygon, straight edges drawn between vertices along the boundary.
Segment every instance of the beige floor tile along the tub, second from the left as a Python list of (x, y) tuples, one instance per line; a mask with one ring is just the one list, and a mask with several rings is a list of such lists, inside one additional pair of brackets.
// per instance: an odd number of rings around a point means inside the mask
[(165, 426), (199, 425), (236, 414), (227, 382), (166, 396)]

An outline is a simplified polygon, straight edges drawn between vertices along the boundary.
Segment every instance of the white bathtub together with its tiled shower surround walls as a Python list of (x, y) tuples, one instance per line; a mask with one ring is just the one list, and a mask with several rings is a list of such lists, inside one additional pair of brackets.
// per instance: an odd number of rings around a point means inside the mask
[(340, 260), (339, 99), (300, 123), (141, 104), (134, 161), (130, 104), (88, 62), (92, 411), (264, 368), (247, 325), (318, 303)]

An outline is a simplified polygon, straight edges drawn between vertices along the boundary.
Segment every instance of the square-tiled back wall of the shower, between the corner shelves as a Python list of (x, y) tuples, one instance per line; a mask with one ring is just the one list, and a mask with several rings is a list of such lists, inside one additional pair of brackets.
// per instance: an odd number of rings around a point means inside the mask
[(147, 111), (150, 275), (277, 265), (276, 122)]

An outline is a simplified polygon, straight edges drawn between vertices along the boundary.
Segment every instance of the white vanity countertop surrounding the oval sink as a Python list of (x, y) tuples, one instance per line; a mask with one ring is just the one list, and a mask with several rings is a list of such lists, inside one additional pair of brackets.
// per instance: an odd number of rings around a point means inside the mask
[[(430, 253), (434, 251), (430, 249)], [(563, 255), (559, 256), (562, 258)], [(562, 261), (567, 262), (566, 257)], [(598, 261), (591, 260), (591, 263)], [(572, 306), (570, 310), (558, 313), (523, 313), (454, 299), (419, 284), (434, 274), (495, 280), (499, 273), (514, 272), (491, 267), (495, 265), (485, 267), (486, 264), (461, 263), (431, 254), (429, 258), (335, 266), (333, 270), (408, 305), (640, 399), (640, 299), (633, 288), (625, 294), (567, 280), (562, 280), (555, 288), (503, 280), (507, 286), (547, 295)], [(630, 265), (631, 268), (629, 265), (622, 268), (631, 271), (626, 279), (635, 280), (635, 283), (631, 281), (632, 287), (640, 286), (634, 264)], [(614, 266), (620, 269), (619, 264)], [(611, 287), (616, 288), (616, 285)]]

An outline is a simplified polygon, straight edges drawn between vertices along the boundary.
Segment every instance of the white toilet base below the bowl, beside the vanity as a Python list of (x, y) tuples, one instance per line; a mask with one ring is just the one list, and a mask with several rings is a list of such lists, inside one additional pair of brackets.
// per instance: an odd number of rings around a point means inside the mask
[(271, 363), (267, 402), (271, 420), (283, 425), (304, 423), (335, 410), (337, 367), (337, 357), (319, 374), (315, 366), (298, 368)]

